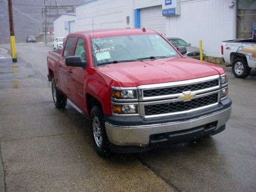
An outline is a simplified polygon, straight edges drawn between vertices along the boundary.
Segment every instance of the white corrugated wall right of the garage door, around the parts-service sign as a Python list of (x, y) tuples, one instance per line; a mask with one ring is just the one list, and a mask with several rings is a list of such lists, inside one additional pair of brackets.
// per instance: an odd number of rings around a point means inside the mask
[(180, 16), (166, 17), (166, 36), (180, 37), (206, 55), (221, 57), (221, 41), (236, 38), (236, 7), (229, 0), (181, 0)]

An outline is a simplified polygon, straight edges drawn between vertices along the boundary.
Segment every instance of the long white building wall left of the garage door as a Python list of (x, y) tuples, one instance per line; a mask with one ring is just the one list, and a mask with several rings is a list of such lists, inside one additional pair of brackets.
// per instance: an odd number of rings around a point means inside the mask
[[(131, 0), (98, 0), (79, 6), (76, 8), (77, 30), (133, 28), (132, 6)], [(126, 16), (130, 16), (129, 24), (126, 22)]]

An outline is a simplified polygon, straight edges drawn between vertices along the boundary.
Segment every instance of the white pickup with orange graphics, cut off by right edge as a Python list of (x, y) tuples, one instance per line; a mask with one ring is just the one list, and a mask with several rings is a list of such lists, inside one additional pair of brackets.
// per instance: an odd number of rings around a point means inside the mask
[(221, 54), (228, 65), (232, 65), (234, 76), (245, 78), (256, 68), (256, 40), (242, 38), (222, 41)]

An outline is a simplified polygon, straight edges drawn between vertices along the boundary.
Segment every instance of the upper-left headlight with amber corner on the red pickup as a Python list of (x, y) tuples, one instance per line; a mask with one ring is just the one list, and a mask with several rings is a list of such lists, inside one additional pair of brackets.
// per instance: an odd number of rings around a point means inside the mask
[(137, 88), (118, 88), (112, 87), (111, 89), (112, 100), (119, 101), (135, 101), (138, 100)]

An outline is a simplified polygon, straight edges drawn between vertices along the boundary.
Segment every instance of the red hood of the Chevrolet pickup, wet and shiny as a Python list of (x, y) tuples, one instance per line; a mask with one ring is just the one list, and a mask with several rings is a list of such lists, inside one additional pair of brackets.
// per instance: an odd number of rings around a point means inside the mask
[(120, 81), (123, 87), (181, 81), (225, 73), (221, 67), (211, 63), (183, 57), (120, 62), (98, 67), (98, 70)]

